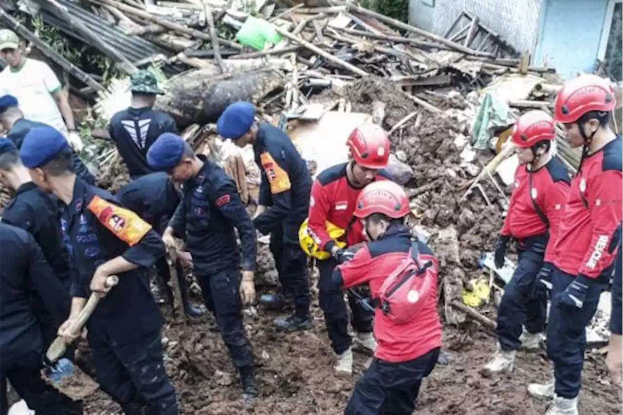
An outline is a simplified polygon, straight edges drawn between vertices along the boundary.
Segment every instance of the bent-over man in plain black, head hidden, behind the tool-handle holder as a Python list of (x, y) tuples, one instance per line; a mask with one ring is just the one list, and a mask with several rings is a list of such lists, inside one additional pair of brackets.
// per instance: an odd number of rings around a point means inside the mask
[[(145, 219), (159, 234), (164, 232), (166, 224), (179, 204), (178, 189), (176, 189), (173, 180), (162, 172), (146, 174), (131, 181), (119, 189), (116, 196), (123, 206)], [(173, 290), (168, 284), (171, 279), (171, 272), (166, 257), (161, 257), (156, 261), (156, 269), (161, 280), (160, 285), (164, 287), (166, 298), (169, 304), (173, 305)], [(201, 308), (191, 305), (188, 300), (188, 284), (184, 277), (184, 269), (179, 262), (176, 263), (176, 271), (179, 289), (182, 292), (184, 312), (191, 317), (199, 317), (203, 311)]]

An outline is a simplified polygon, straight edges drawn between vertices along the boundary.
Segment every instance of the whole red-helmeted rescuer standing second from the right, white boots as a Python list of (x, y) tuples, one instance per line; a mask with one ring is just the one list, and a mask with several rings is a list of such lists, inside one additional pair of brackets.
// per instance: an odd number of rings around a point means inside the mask
[[(547, 295), (537, 281), (551, 275), (558, 222), (569, 195), (569, 174), (549, 152), (556, 136), (554, 120), (543, 111), (530, 111), (515, 124), (511, 137), (520, 165), (508, 214), (495, 249), (495, 266), (502, 268), (506, 245), (515, 239), (519, 264), (506, 284), (498, 307), (498, 350), (484, 374), (513, 371), (515, 355), (523, 346), (538, 350), (545, 330)], [(522, 326), (526, 330), (522, 333)]]

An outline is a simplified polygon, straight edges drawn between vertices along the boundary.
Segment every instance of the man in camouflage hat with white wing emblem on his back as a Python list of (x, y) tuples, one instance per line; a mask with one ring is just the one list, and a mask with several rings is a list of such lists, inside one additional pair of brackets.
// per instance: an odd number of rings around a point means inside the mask
[(130, 107), (113, 115), (108, 133), (128, 166), (130, 178), (136, 179), (153, 172), (146, 155), (156, 138), (162, 133), (176, 133), (178, 128), (168, 114), (152, 109), (156, 95), (164, 92), (151, 72), (136, 71), (130, 75), (130, 85)]

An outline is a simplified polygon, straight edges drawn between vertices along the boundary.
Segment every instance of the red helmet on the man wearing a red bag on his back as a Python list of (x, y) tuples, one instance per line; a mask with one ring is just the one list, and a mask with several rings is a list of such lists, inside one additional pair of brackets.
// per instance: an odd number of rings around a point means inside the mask
[(359, 193), (354, 216), (368, 217), (382, 213), (392, 219), (409, 213), (409, 198), (399, 184), (389, 180), (374, 181)]

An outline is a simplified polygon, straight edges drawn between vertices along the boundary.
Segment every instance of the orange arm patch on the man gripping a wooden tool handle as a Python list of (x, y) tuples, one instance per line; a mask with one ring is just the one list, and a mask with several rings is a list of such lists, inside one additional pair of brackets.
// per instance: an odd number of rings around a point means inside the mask
[(113, 232), (121, 241), (135, 246), (151, 230), (151, 225), (143, 221), (135, 212), (117, 206), (107, 200), (94, 196), (87, 209), (97, 220)]

